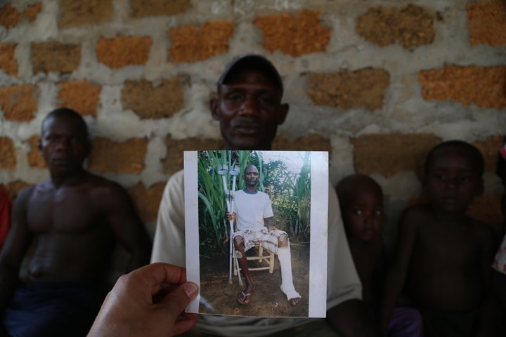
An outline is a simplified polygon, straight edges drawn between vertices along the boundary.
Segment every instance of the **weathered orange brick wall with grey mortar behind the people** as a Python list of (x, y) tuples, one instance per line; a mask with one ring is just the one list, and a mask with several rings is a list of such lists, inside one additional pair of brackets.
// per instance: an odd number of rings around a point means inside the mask
[(504, 0), (2, 0), (0, 182), (15, 195), (48, 177), (41, 120), (72, 107), (91, 129), (88, 168), (129, 190), (153, 234), (182, 150), (221, 146), (207, 102), (245, 52), (285, 81), (274, 150), (330, 151), (334, 184), (376, 178), (387, 234), (420, 197), (425, 154), (450, 139), (484, 152), (486, 190), (470, 212), (500, 222)]

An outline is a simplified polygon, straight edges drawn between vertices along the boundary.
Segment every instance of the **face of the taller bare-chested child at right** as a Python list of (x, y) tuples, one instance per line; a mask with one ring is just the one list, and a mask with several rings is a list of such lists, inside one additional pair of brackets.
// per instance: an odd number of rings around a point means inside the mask
[(465, 150), (443, 147), (434, 153), (427, 168), (425, 188), (436, 209), (465, 213), (472, 199), (481, 193), (483, 180)]

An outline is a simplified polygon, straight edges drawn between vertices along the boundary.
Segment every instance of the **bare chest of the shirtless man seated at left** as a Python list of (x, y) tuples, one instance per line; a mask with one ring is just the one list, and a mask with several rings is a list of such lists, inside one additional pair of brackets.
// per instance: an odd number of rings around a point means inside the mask
[(27, 204), (27, 224), (34, 233), (87, 230), (100, 211), (86, 188), (38, 188)]

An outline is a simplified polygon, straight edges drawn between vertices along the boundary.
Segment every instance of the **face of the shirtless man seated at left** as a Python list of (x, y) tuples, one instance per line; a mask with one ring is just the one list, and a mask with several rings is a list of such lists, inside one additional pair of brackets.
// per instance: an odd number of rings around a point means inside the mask
[(82, 124), (74, 117), (50, 117), (42, 126), (39, 151), (52, 174), (72, 174), (82, 169), (89, 141)]

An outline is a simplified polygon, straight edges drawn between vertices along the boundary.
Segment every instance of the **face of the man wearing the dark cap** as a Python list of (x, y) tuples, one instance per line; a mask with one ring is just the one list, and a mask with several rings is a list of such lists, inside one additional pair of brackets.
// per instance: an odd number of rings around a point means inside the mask
[(211, 100), (221, 136), (232, 150), (271, 150), (278, 125), (288, 105), (281, 104), (280, 90), (263, 73), (243, 70), (221, 84), (219, 98)]

